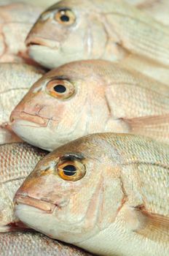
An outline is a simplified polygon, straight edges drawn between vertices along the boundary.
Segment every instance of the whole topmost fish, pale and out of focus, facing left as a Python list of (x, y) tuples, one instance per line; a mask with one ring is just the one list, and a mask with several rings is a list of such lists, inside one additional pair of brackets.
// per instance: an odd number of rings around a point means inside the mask
[(25, 43), (31, 59), (50, 69), (104, 59), (168, 85), (168, 31), (122, 0), (63, 0), (42, 12)]

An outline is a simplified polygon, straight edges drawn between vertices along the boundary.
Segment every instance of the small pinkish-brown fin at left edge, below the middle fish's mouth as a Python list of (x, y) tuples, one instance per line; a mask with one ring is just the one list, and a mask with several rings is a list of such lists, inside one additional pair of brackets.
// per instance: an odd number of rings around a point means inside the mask
[(0, 145), (5, 143), (23, 142), (14, 132), (8, 123), (0, 125)]

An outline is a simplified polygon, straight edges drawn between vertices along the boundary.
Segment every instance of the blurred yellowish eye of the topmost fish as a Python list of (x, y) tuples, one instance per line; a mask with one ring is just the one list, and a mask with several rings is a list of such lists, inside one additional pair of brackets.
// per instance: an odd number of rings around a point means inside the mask
[(62, 9), (56, 12), (55, 20), (57, 20), (60, 24), (70, 26), (74, 24), (76, 17), (74, 12), (72, 12), (70, 9)]

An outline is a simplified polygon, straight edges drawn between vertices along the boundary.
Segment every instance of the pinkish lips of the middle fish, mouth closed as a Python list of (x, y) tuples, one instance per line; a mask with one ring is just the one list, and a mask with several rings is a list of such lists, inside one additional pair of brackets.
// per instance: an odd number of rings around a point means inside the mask
[(40, 127), (47, 127), (49, 118), (42, 118), (41, 116), (32, 115), (25, 111), (13, 110), (10, 116), (10, 124), (15, 124), (16, 121), (31, 121), (33, 124), (39, 124)]

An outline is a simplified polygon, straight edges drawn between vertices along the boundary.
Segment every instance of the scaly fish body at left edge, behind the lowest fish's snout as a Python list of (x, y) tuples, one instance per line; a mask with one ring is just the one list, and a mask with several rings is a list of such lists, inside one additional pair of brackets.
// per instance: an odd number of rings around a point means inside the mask
[(46, 154), (46, 151), (27, 143), (0, 145), (0, 233), (15, 230), (20, 225), (13, 212), (13, 197), (37, 162)]

